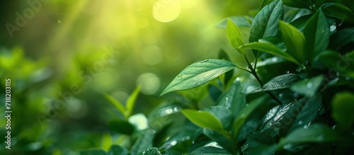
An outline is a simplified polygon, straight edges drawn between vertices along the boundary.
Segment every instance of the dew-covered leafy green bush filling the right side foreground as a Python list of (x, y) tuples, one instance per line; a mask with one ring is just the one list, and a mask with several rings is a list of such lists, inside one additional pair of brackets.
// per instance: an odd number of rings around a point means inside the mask
[(183, 97), (147, 118), (130, 115), (137, 91), (127, 108), (106, 96), (122, 113), (109, 125), (127, 143), (81, 154), (350, 154), (353, 11), (349, 0), (264, 0), (254, 17), (227, 18), (218, 26), (246, 67), (222, 50), (191, 64), (161, 93)]

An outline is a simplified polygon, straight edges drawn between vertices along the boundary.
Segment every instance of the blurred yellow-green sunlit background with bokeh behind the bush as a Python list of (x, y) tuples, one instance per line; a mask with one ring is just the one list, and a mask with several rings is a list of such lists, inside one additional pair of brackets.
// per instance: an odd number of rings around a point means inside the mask
[[(125, 103), (142, 86), (135, 113), (147, 115), (176, 93), (159, 93), (183, 68), (233, 53), (228, 16), (249, 14), (261, 0), (12, 0), (0, 5), (1, 113), (11, 79), (11, 151), (76, 154), (118, 142), (106, 120), (117, 117), (103, 98)], [(241, 57), (241, 56), (240, 56)], [(6, 120), (1, 116), (1, 137)]]

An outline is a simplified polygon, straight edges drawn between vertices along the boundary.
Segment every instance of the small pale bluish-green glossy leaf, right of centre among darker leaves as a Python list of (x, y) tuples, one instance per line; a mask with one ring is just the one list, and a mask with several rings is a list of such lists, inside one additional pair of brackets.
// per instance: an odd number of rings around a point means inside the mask
[(304, 79), (293, 84), (290, 89), (304, 96), (314, 96), (319, 86), (321, 86), (324, 77), (322, 75), (316, 76), (312, 79)]

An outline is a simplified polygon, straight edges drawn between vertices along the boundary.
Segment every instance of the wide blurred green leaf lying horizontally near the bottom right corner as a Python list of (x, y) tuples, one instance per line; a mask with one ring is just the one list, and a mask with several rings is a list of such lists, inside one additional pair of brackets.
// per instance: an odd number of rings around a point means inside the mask
[(310, 125), (308, 127), (299, 128), (280, 142), (281, 146), (286, 144), (301, 144), (309, 142), (338, 142), (343, 140), (340, 134), (331, 130), (324, 125)]

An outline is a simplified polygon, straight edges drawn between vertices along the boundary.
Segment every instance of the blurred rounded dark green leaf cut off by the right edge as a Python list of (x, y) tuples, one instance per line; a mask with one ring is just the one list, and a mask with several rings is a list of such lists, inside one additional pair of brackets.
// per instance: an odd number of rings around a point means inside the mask
[(349, 130), (354, 125), (354, 94), (338, 93), (331, 103), (332, 117), (341, 130)]

